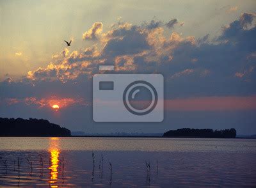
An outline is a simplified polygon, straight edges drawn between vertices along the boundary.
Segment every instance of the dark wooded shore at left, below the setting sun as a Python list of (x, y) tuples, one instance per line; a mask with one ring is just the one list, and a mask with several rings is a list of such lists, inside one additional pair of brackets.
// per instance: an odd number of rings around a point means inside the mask
[(71, 136), (71, 132), (43, 119), (0, 118), (0, 136)]

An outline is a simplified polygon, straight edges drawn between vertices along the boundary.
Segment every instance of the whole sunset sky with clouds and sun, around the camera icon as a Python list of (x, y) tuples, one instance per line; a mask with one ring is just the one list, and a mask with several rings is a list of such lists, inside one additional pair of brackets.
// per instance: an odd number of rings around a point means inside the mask
[[(0, 116), (89, 133), (256, 134), (256, 1), (0, 1)], [(72, 40), (67, 47), (63, 40)], [(92, 76), (164, 75), (162, 123), (95, 123)]]

